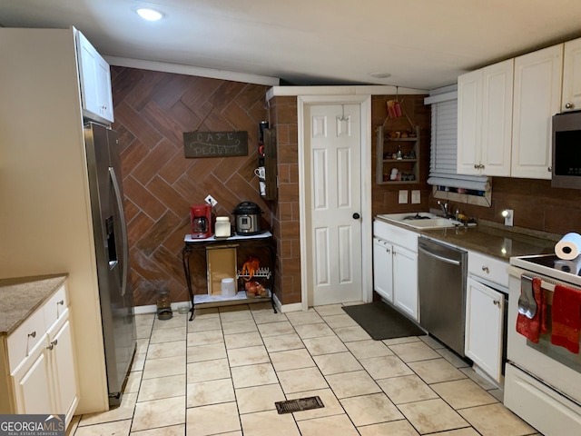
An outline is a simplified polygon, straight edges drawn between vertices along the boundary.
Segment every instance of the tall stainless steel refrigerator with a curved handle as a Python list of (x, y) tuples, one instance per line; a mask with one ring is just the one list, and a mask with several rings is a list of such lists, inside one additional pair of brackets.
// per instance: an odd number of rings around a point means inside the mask
[(116, 406), (121, 403), (136, 343), (120, 152), (117, 134), (101, 124), (84, 124), (84, 141), (109, 405)]

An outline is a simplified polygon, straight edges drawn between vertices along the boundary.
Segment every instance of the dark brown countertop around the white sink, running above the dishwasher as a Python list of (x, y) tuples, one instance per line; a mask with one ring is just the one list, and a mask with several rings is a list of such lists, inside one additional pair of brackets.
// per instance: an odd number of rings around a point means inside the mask
[(396, 225), (430, 239), (455, 245), (464, 250), (487, 254), (508, 262), (512, 256), (555, 253), (560, 235), (528, 231), (507, 230), (497, 223), (478, 222), (476, 227), (448, 227), (447, 229), (417, 230), (404, 224), (393, 223), (376, 217), (383, 223)]

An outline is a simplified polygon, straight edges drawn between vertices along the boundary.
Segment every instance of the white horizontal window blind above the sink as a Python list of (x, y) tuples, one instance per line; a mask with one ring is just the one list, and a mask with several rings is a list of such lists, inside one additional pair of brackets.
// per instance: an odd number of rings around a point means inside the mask
[(430, 93), (425, 104), (431, 104), (431, 146), (428, 183), (450, 188), (486, 191), (488, 177), (458, 174), (458, 94)]

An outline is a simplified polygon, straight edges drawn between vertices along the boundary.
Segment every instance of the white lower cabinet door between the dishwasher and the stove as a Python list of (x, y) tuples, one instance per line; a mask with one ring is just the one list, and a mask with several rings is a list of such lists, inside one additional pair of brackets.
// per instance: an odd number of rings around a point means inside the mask
[(465, 352), (482, 371), (502, 380), (505, 295), (468, 277)]

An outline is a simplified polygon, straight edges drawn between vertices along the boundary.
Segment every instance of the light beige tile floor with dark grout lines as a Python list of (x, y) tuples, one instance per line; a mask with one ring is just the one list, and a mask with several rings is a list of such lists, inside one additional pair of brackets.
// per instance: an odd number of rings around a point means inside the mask
[[(189, 314), (188, 314), (189, 315)], [(122, 405), (74, 417), (74, 436), (538, 435), (502, 391), (428, 336), (373, 341), (340, 304), (270, 303), (137, 316)], [(278, 414), (275, 401), (325, 407)]]

